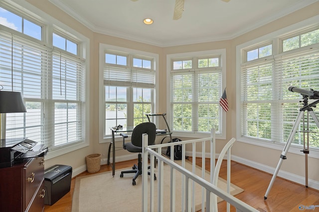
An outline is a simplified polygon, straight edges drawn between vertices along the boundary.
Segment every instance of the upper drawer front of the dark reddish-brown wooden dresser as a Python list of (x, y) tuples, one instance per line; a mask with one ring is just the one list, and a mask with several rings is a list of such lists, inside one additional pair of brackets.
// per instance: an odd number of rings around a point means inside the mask
[(43, 179), (44, 157), (33, 158), (25, 167), (25, 209), (30, 204), (40, 184), (43, 183)]

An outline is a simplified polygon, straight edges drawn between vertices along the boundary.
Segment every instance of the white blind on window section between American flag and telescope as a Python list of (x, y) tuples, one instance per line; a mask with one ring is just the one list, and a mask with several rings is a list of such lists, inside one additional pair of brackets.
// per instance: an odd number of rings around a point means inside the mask
[(271, 139), (274, 60), (242, 65), (242, 135)]

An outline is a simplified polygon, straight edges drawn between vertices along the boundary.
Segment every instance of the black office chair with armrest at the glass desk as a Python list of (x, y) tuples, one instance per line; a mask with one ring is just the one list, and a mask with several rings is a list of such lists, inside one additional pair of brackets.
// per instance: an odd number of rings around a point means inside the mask
[[(128, 150), (129, 152), (139, 152), (138, 165), (134, 164), (132, 170), (122, 171), (120, 177), (123, 177), (124, 173), (136, 173), (133, 178), (133, 186), (136, 185), (135, 180), (142, 174), (142, 134), (148, 134), (149, 136), (149, 145), (153, 145), (155, 143), (156, 136), (156, 126), (152, 122), (144, 122), (138, 124), (132, 132), (131, 142), (125, 143), (125, 138), (128, 137), (126, 133), (121, 133), (123, 136), (123, 148)], [(148, 160), (146, 158), (146, 160)], [(150, 169), (150, 166), (148, 167)], [(150, 172), (148, 172), (151, 175)], [(154, 180), (156, 180), (156, 175), (154, 174)]]

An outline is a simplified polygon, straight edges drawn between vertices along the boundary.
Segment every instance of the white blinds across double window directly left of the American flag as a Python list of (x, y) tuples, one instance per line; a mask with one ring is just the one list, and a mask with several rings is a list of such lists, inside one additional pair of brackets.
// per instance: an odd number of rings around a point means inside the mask
[(221, 83), (221, 69), (171, 71), (171, 129), (221, 133)]

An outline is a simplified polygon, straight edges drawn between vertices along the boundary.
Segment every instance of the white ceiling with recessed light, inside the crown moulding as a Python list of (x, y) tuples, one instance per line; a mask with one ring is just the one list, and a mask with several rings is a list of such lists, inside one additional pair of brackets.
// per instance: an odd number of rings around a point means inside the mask
[(185, 0), (178, 20), (175, 0), (49, 1), (95, 32), (166, 47), (232, 39), (318, 0)]

